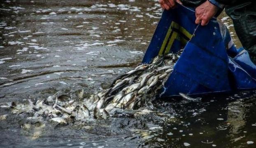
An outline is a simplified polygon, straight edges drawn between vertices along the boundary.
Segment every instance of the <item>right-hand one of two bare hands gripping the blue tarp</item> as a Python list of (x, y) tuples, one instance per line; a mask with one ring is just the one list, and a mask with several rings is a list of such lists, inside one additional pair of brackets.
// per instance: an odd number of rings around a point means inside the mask
[(207, 0), (195, 9), (195, 23), (202, 26), (207, 25), (218, 10), (218, 7)]

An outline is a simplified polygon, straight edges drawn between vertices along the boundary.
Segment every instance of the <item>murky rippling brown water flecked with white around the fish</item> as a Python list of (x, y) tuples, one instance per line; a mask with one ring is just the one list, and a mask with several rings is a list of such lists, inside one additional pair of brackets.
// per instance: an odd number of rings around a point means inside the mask
[[(1, 0), (0, 103), (84, 88), (91, 94), (140, 63), (162, 9), (157, 0)], [(231, 20), (228, 26), (241, 46)], [(233, 33), (232, 33), (233, 32)], [(154, 102), (135, 117), (23, 130), (0, 121), (1, 147), (255, 147), (255, 92)], [(0, 109), (0, 115), (9, 114)]]

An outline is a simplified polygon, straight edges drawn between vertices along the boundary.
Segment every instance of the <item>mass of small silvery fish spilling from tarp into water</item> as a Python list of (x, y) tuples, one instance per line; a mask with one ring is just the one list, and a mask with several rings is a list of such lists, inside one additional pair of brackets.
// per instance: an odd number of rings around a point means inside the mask
[(107, 119), (116, 109), (133, 110), (151, 106), (181, 53), (182, 51), (157, 56), (150, 64), (140, 64), (118, 76), (108, 89), (88, 98), (83, 97), (84, 90), (81, 90), (76, 97), (55, 94), (36, 102), (27, 99), (26, 104), (10, 102), (0, 107), (10, 109), (12, 114), (26, 117), (26, 124), (46, 121), (67, 125), (77, 121)]

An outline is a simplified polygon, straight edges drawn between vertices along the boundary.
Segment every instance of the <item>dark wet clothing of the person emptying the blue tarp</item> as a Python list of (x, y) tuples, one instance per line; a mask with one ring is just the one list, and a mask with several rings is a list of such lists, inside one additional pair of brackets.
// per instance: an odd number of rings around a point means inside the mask
[[(181, 0), (188, 7), (198, 7), (206, 0)], [(244, 49), (256, 63), (256, 0), (216, 0), (226, 5), (226, 14), (232, 18), (235, 32)]]

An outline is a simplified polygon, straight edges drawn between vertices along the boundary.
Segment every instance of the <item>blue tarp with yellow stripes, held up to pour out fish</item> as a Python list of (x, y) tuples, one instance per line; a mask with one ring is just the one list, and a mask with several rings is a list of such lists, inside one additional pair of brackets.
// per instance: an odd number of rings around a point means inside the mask
[(256, 89), (256, 66), (247, 51), (235, 48), (228, 29), (216, 18), (201, 26), (195, 24), (193, 8), (165, 10), (142, 63), (180, 49), (184, 51), (161, 97)]

